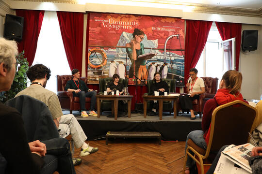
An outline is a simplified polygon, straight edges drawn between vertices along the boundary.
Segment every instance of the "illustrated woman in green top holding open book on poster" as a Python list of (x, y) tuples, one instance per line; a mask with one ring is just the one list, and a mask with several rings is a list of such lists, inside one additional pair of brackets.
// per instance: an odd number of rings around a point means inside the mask
[[(145, 33), (141, 29), (134, 29), (133, 38), (130, 43), (126, 44), (126, 51), (128, 57), (131, 60), (131, 67), (129, 70), (129, 78), (135, 78), (134, 75), (141, 80), (147, 80), (147, 67), (146, 59), (137, 58), (139, 55), (145, 54), (144, 44), (141, 43), (144, 39)], [(138, 81), (137, 84), (141, 84), (141, 81)]]

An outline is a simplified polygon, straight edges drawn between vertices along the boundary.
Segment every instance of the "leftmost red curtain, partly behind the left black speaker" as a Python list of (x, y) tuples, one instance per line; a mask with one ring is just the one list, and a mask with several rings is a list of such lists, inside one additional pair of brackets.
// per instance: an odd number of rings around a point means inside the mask
[(18, 45), (18, 50), (25, 51), (29, 66), (33, 63), (44, 14), (45, 11), (16, 10), (17, 16), (24, 17), (23, 39)]

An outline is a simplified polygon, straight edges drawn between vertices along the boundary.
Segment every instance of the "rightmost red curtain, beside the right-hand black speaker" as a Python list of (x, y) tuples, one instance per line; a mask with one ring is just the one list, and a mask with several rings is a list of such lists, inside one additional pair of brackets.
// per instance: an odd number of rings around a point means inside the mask
[(227, 22), (215, 22), (215, 24), (223, 41), (236, 38), (236, 71), (238, 71), (242, 24)]

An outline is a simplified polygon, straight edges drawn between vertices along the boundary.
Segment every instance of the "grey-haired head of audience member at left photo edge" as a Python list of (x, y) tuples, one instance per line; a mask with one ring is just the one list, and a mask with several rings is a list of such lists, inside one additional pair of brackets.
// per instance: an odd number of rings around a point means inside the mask
[(16, 74), (17, 44), (0, 38), (0, 91), (9, 90)]

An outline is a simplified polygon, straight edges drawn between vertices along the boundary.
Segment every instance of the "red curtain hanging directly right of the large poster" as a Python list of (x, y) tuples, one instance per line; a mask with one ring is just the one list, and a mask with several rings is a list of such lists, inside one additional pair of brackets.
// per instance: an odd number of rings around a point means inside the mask
[(185, 84), (189, 77), (189, 70), (197, 65), (211, 26), (212, 21), (186, 20)]

